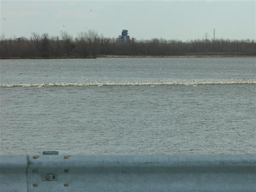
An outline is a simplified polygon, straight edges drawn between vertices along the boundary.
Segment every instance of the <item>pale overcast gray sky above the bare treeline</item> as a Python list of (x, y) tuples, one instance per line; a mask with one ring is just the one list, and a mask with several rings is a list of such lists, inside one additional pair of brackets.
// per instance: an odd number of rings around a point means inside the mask
[[(117, 37), (127, 29), (137, 39), (254, 39), (256, 1), (12, 1), (0, 2), (0, 33), (30, 37), (32, 32), (59, 36), (93, 29)], [(92, 11), (90, 11), (92, 10)], [(4, 19), (5, 18), (5, 19)], [(65, 27), (64, 27), (64, 26)]]

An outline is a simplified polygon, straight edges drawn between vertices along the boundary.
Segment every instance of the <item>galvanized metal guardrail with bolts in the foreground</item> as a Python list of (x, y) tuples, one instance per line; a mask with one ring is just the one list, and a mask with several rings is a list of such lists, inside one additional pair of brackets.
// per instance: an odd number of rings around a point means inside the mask
[(256, 154), (2, 155), (1, 192), (256, 192)]

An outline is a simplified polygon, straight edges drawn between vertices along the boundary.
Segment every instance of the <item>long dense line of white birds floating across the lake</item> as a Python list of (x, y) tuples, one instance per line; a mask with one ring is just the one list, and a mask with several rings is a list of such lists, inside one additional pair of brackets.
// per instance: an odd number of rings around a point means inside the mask
[(0, 84), (1, 88), (10, 87), (49, 87), (49, 86), (126, 86), (126, 85), (230, 85), (230, 84), (256, 84), (256, 79), (223, 79), (223, 80), (190, 80), (190, 81), (70, 81), (70, 82), (43, 82), (43, 83), (5, 83)]

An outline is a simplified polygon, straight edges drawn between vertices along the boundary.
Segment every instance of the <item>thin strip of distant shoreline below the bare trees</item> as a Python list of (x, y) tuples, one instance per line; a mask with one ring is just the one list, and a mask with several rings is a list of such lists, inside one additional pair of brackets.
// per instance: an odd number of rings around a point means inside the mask
[(256, 57), (255, 55), (99, 55), (97, 57), (5, 57), (2, 59), (97, 59), (97, 58), (204, 58), (204, 57)]

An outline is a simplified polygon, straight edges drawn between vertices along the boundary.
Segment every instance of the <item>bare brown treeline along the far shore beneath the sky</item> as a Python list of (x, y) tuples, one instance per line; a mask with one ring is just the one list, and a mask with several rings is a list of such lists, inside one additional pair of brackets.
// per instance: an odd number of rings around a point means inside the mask
[(73, 38), (66, 31), (60, 36), (32, 33), (31, 38), (0, 40), (0, 58), (88, 58), (104, 55), (181, 56), (181, 55), (256, 55), (254, 40), (130, 40), (118, 43), (96, 31), (80, 32)]

